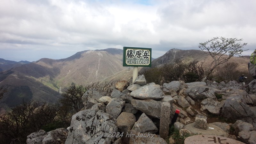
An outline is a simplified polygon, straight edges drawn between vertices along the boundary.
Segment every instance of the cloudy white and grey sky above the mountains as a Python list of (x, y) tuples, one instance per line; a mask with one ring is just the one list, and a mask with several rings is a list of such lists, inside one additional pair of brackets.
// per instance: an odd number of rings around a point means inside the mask
[(212, 37), (256, 49), (255, 0), (1, 0), (0, 58), (62, 59), (124, 46), (199, 49)]

